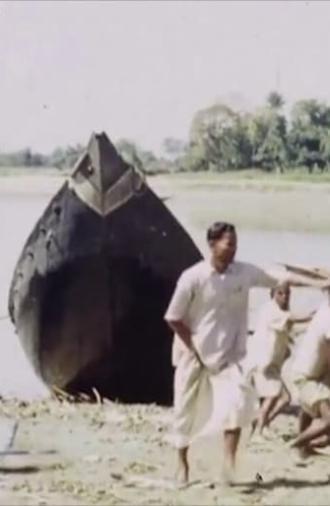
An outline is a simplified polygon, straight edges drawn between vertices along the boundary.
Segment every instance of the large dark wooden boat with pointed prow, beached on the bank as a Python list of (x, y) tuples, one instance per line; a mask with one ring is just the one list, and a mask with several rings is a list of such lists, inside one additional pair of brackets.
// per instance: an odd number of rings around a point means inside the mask
[(163, 316), (178, 276), (200, 259), (142, 175), (93, 134), (13, 275), (9, 312), (36, 373), (69, 393), (171, 403)]

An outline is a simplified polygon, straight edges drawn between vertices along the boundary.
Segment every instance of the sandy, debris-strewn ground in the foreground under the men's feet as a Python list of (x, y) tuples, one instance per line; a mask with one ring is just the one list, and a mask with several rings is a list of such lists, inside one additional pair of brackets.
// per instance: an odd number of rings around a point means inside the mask
[[(286, 447), (296, 430), (281, 415), (265, 441), (243, 442), (238, 484), (219, 481), (220, 444), (192, 448), (191, 483), (174, 487), (166, 443), (170, 409), (156, 406), (2, 401), (1, 423), (18, 419), (16, 450), (2, 457), (0, 504), (314, 504), (330, 501), (330, 455), (299, 461)], [(258, 476), (259, 475), (259, 476)]]

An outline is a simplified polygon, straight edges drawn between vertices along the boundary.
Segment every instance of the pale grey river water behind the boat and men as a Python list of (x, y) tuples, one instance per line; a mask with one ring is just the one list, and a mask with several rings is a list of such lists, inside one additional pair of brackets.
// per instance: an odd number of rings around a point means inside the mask
[[(20, 398), (35, 398), (46, 394), (47, 390), (35, 377), (23, 351), (14, 328), (7, 315), (9, 284), (17, 258), (23, 244), (32, 230), (35, 221), (46, 207), (50, 195), (8, 193), (0, 199), (0, 395), (14, 395)], [(177, 213), (176, 213), (177, 214)], [(183, 224), (205, 251), (204, 231), (194, 224)], [(257, 264), (288, 262), (316, 266), (329, 266), (330, 236), (238, 230), (238, 259)], [(254, 290), (250, 300), (251, 325), (255, 311), (268, 297), (266, 290)], [(321, 299), (314, 290), (294, 290), (293, 308), (299, 311), (313, 309)]]

